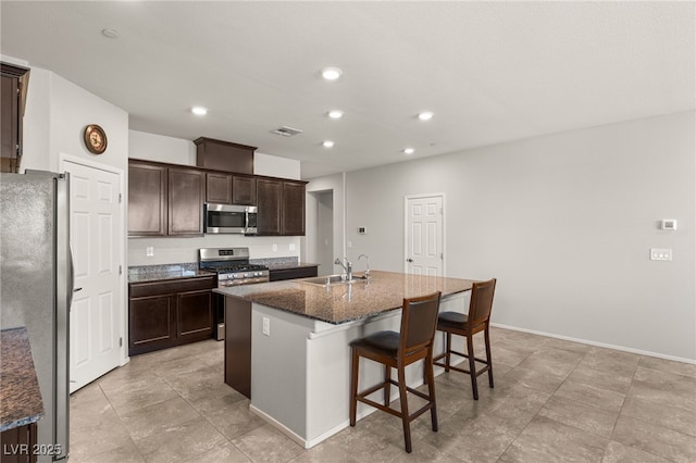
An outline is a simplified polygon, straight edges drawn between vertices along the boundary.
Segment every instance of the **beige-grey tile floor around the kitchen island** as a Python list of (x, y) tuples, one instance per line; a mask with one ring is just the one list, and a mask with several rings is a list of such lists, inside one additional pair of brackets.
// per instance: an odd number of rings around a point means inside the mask
[[(696, 365), (492, 330), (495, 389), (436, 379), (439, 433), (376, 412), (304, 450), (223, 383), (213, 340), (137, 355), (71, 397), (79, 462), (694, 462)], [(395, 402), (396, 403), (396, 402)]]

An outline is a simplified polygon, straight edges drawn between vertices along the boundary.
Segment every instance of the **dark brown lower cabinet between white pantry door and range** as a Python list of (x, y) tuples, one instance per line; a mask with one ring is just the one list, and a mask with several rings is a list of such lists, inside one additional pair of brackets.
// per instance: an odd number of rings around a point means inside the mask
[(213, 333), (214, 277), (128, 285), (128, 355), (200, 341)]

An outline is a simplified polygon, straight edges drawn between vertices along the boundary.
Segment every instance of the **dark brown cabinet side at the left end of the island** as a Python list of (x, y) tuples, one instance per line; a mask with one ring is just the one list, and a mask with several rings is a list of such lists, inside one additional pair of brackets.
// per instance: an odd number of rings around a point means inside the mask
[(251, 399), (251, 302), (225, 297), (225, 384)]

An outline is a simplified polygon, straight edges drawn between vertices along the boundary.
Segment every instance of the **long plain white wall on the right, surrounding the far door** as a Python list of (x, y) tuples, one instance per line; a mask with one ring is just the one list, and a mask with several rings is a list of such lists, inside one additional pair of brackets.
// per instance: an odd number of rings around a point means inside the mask
[[(403, 197), (445, 192), (446, 274), (497, 277), (495, 323), (694, 361), (695, 122), (679, 113), (348, 173), (348, 256), (402, 271)], [(679, 229), (658, 229), (661, 218)], [(649, 261), (650, 248), (674, 260)]]

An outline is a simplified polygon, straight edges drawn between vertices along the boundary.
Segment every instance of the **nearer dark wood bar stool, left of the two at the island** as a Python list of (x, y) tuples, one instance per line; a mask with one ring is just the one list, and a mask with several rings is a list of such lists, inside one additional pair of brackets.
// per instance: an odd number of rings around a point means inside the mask
[[(437, 408), (435, 403), (435, 377), (433, 375), (433, 340), (437, 324), (440, 292), (428, 296), (403, 299), (400, 333), (378, 331), (350, 343), (352, 367), (350, 375), (350, 426), (356, 425), (358, 401), (372, 405), (401, 418), (406, 451), (411, 453), (411, 422), (431, 411), (433, 430), (437, 431)], [(358, 376), (360, 358), (364, 356), (384, 364), (384, 381), (358, 393)], [(406, 385), (406, 367), (419, 360), (424, 360), (424, 378), (427, 383), (427, 395)], [(391, 368), (397, 370), (398, 383), (391, 379)], [(389, 408), (390, 386), (399, 388), (400, 410)], [(368, 396), (384, 389), (384, 404), (368, 399)], [(414, 413), (409, 413), (407, 391), (427, 403)]]

